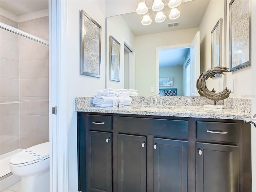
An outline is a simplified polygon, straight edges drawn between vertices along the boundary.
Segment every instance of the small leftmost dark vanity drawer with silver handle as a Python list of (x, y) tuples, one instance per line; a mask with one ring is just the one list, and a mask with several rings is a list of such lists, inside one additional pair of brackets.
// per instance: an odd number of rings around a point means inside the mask
[(105, 115), (88, 115), (89, 130), (112, 130), (112, 116)]

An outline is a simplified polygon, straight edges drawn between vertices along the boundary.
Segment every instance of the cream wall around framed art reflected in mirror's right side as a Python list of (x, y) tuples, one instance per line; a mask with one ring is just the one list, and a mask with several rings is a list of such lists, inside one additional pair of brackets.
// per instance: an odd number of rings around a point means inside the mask
[[(222, 55), (224, 52), (224, 0), (210, 0), (204, 18), (202, 19), (199, 29), (200, 29), (200, 73), (210, 69), (212, 66), (212, 54), (211, 54), (211, 31), (222, 18)], [(222, 56), (222, 66), (223, 66), (223, 56)], [(209, 90), (216, 90), (220, 92), (223, 90), (223, 75), (218, 76), (214, 79), (208, 78), (207, 88)]]

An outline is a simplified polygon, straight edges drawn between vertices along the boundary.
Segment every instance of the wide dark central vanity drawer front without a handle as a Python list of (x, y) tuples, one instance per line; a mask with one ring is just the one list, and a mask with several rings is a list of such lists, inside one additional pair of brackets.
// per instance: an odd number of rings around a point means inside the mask
[(188, 122), (151, 118), (118, 117), (117, 130), (134, 134), (150, 134), (188, 138)]

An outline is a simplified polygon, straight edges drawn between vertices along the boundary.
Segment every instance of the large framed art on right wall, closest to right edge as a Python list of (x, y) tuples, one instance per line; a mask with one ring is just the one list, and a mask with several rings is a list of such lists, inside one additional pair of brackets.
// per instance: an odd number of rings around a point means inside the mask
[(250, 0), (232, 0), (229, 4), (230, 71), (251, 64), (250, 5)]

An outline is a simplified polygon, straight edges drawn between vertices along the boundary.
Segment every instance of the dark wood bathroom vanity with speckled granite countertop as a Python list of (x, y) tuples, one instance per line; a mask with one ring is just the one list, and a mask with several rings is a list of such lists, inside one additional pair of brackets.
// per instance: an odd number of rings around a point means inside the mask
[(248, 114), (141, 105), (76, 111), (80, 191), (251, 191)]

